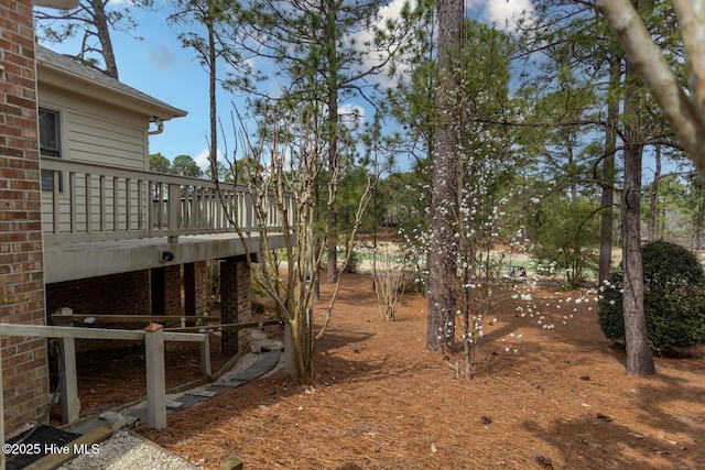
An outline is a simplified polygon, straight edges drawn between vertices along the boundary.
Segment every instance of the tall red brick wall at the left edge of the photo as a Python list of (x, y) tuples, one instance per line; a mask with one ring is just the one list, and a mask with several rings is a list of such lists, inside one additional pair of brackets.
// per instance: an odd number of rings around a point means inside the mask
[[(44, 324), (40, 160), (32, 6), (0, 0), (0, 320)], [(4, 424), (43, 412), (46, 340), (2, 337)]]

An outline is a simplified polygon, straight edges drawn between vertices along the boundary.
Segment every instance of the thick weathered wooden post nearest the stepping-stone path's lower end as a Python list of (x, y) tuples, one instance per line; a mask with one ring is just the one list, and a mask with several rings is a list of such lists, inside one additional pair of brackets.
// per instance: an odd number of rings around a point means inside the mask
[(166, 427), (166, 375), (164, 373), (164, 329), (150, 324), (144, 328), (147, 361), (147, 425), (152, 429)]

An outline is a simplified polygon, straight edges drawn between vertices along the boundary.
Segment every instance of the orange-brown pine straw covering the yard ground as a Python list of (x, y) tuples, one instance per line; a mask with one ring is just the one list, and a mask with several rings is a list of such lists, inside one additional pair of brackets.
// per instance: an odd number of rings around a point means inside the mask
[(248, 470), (705, 468), (703, 351), (630, 376), (595, 294), (579, 297), (543, 287), (505, 303), (467, 382), (445, 363), (460, 356), (425, 350), (423, 297), (388, 323), (370, 278), (346, 275), (313, 386), (279, 371), (139, 431), (208, 469), (232, 455)]

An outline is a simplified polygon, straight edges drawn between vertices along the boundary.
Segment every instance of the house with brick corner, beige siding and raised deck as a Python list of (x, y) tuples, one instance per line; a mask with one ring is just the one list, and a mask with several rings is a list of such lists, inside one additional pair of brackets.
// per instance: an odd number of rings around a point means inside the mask
[[(35, 44), (29, 0), (0, 0), (0, 324), (50, 325), (64, 307), (202, 315), (216, 262), (221, 321), (247, 320), (245, 256), (259, 247), (247, 192), (149, 172), (150, 133), (185, 111)], [(236, 353), (247, 335), (221, 343)], [(48, 354), (44, 338), (6, 335), (1, 347), (11, 433), (46, 406)]]

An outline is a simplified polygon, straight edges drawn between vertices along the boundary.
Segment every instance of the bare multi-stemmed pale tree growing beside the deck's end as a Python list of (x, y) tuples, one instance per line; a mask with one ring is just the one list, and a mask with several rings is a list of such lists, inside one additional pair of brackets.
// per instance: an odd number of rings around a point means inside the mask
[[(273, 113), (272, 113), (273, 114)], [(323, 311), (317, 332), (314, 327), (314, 285), (318, 276), (325, 247), (315, 243), (316, 205), (315, 192), (321, 173), (327, 170), (327, 149), (322, 146), (322, 122), (304, 120), (301, 124), (291, 124), (278, 116), (270, 116), (265, 125), (270, 128), (265, 141), (252, 141), (247, 131), (238, 132), (238, 149), (228, 159), (235, 168), (235, 155), (241, 154), (247, 173), (247, 187), (254, 207), (254, 217), (259, 227), (258, 264), (249, 260), (250, 267), (259, 272), (254, 282), (274, 299), (282, 319), (291, 329), (292, 351), (291, 370), (288, 373), (300, 382), (308, 382), (313, 374), (313, 357), (316, 340), (319, 339), (330, 321), (333, 306), (340, 285), (337, 280), (334, 293)], [(333, 172), (326, 182), (327, 201), (335, 200), (339, 174)], [(241, 242), (247, 245), (252, 238), (245, 232), (237, 214), (230, 211), (226, 195), (227, 188), (218, 184), (218, 194), (223, 207), (229, 211), (230, 222), (237, 230)], [(354, 240), (361, 225), (362, 214), (371, 195), (371, 181), (359, 199), (357, 215), (348, 237)], [(269, 221), (278, 220), (284, 240), (282, 252), (270, 245), (273, 230)], [(280, 231), (279, 229), (276, 231)], [(348, 252), (344, 267), (349, 261)], [(282, 259), (286, 260), (285, 273), (280, 270)]]

